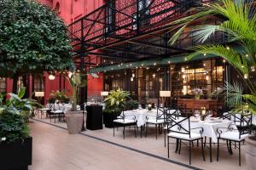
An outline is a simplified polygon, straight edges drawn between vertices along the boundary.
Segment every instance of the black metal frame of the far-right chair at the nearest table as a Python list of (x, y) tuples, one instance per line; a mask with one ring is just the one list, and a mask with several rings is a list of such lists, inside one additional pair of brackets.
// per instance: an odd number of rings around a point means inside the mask
[[(230, 124), (229, 127), (219, 127), (219, 128), (217, 129), (217, 132), (218, 132), (217, 161), (218, 161), (218, 155), (219, 155), (219, 139), (222, 139), (222, 138), (221, 138), (221, 133), (224, 133), (224, 132), (223, 132), (223, 129), (230, 130), (230, 131), (238, 131), (238, 133), (239, 133), (239, 139), (241, 139), (241, 135), (242, 135), (242, 134), (251, 133), (252, 121), (247, 122), (247, 120), (245, 119), (245, 116), (251, 116), (251, 118), (252, 118), (252, 114), (241, 115), (241, 118), (237, 117), (237, 118), (240, 120), (240, 127), (237, 128), (237, 129), (233, 128), (234, 126), (236, 126), (236, 123), (235, 123), (235, 124)], [(251, 120), (251, 119), (249, 119), (249, 120)], [(247, 122), (247, 123), (248, 123), (248, 124), (247, 124), (248, 126), (242, 127), (242, 126), (241, 126), (241, 123), (242, 123), (242, 122)], [(233, 151), (232, 151), (232, 148), (231, 148), (232, 142), (235, 143), (235, 147), (236, 147), (236, 142), (238, 142), (239, 166), (241, 166), (241, 142), (244, 142), (244, 139), (243, 139), (243, 140), (224, 139), (224, 140), (226, 140), (226, 142), (227, 142), (227, 148), (228, 148), (228, 152), (229, 152), (230, 155), (233, 155)]]

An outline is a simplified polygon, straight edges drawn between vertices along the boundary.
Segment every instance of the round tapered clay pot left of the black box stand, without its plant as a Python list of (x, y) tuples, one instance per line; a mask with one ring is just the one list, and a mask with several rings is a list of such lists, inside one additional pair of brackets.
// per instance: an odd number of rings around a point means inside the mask
[(67, 111), (67, 114), (65, 116), (67, 121), (68, 133), (80, 133), (84, 121), (83, 111)]

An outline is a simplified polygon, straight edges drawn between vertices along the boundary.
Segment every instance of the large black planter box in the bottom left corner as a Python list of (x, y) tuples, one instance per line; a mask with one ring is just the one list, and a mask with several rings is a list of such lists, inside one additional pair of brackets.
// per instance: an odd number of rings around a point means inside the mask
[(32, 137), (24, 142), (0, 144), (0, 169), (26, 170), (32, 165)]

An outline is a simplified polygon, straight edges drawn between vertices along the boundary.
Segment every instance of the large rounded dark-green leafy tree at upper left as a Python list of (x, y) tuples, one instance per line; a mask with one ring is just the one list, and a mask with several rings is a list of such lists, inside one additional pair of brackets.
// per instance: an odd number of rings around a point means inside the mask
[(54, 11), (33, 0), (0, 1), (0, 77), (14, 79), (14, 93), (18, 77), (72, 65), (67, 27)]

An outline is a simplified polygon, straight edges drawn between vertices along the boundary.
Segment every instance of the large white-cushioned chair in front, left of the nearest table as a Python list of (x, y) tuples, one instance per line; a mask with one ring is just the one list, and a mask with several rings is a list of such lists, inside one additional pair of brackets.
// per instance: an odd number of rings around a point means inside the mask
[(191, 148), (192, 142), (195, 140), (201, 140), (201, 154), (203, 161), (205, 161), (204, 144), (203, 144), (203, 127), (190, 127), (190, 116), (185, 118), (179, 118), (173, 120), (172, 126), (168, 127), (167, 145), (168, 145), (168, 158), (170, 157), (170, 138), (176, 139), (176, 150), (175, 152), (180, 154), (182, 141), (189, 142), (189, 165), (191, 165)]

